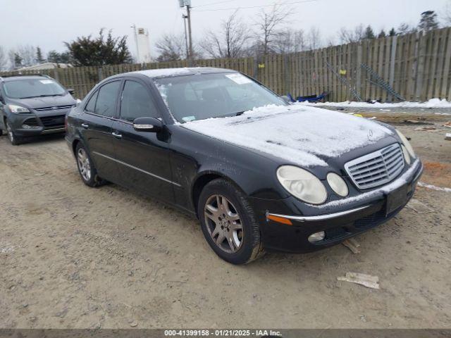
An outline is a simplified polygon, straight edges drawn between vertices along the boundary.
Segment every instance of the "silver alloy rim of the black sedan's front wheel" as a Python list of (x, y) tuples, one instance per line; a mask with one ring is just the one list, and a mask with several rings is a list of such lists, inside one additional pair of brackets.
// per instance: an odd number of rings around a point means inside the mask
[(232, 202), (222, 195), (212, 195), (205, 207), (205, 223), (216, 246), (227, 253), (235, 253), (243, 242), (240, 215)]

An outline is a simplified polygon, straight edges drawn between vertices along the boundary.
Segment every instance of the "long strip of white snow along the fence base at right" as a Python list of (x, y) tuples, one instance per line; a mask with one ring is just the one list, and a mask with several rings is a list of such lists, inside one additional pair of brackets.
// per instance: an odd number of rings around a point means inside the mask
[(329, 107), (355, 107), (355, 108), (451, 108), (451, 101), (446, 99), (430, 99), (427, 102), (398, 102), (395, 104), (381, 104), (376, 102), (374, 104), (369, 104), (368, 102), (319, 102), (319, 103), (309, 103), (309, 102), (297, 102), (300, 106), (329, 106)]

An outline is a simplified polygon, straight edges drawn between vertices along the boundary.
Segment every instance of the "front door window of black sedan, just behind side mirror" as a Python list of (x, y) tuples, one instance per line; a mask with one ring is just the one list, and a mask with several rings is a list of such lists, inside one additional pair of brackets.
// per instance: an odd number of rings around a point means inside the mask
[(159, 118), (148, 90), (139, 82), (125, 81), (121, 100), (121, 119), (133, 122), (135, 118)]

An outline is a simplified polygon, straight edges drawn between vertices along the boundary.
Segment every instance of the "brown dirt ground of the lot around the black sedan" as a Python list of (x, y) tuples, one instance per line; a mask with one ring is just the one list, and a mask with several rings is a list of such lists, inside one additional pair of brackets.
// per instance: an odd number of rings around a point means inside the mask
[[(421, 181), (451, 188), (451, 115), (354, 111), (433, 123), (398, 127), (426, 165)], [(0, 177), (1, 328), (450, 327), (451, 192), (419, 187), (356, 237), (360, 253), (267, 253), (238, 267), (197, 220), (114, 184), (86, 187), (63, 137), (0, 137)], [(381, 289), (338, 282), (347, 272), (378, 276)]]

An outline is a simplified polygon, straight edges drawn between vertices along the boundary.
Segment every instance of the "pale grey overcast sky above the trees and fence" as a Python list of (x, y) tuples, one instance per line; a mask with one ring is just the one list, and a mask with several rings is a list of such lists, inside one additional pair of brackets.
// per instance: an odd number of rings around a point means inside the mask
[[(297, 0), (279, 0), (279, 3)], [(443, 13), (450, 0), (316, 0), (290, 4), (295, 15), (290, 27), (309, 30), (316, 26), (325, 39), (336, 37), (340, 27), (371, 24), (375, 30), (390, 30), (400, 23), (418, 23), (426, 10)], [(216, 29), (233, 9), (220, 8), (271, 5), (274, 0), (192, 0), (194, 39), (202, 39), (205, 30)], [(206, 4), (211, 4), (205, 6)], [(199, 6), (198, 8), (195, 8)], [(200, 11), (215, 9), (215, 11)], [(270, 10), (271, 7), (264, 7)], [(196, 11), (197, 10), (197, 11)], [(240, 9), (240, 16), (249, 25), (261, 8)], [(130, 50), (135, 51), (130, 25), (150, 31), (152, 52), (154, 42), (165, 32), (183, 32), (182, 11), (178, 0), (0, 0), (0, 45), (6, 49), (18, 45), (40, 46), (44, 53), (51, 49), (63, 51), (63, 41), (80, 35), (97, 34), (101, 27), (113, 30), (113, 35), (128, 35)]]

